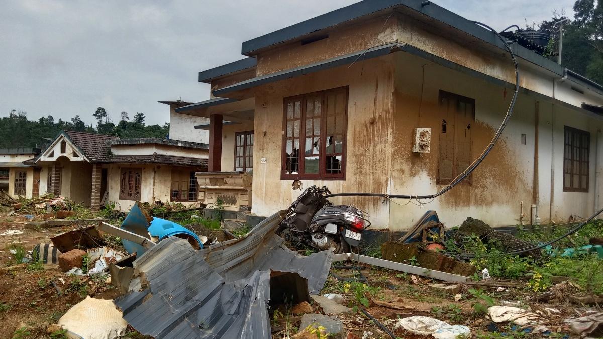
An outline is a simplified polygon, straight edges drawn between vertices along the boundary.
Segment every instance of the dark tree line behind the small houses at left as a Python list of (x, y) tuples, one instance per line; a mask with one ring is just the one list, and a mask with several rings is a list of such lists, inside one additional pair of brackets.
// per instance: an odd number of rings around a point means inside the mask
[(11, 110), (8, 116), (0, 118), (0, 148), (43, 147), (48, 139), (57, 136), (61, 130), (115, 135), (119, 138), (165, 138), (169, 133), (169, 122), (147, 125), (144, 113), (136, 113), (130, 120), (127, 112), (121, 112), (117, 124), (109, 119), (103, 107), (98, 107), (92, 115), (96, 118), (96, 126), (86, 124), (80, 115), (75, 115), (70, 121), (62, 118), (55, 121), (52, 115), (42, 116), (36, 121), (28, 119), (27, 112)]

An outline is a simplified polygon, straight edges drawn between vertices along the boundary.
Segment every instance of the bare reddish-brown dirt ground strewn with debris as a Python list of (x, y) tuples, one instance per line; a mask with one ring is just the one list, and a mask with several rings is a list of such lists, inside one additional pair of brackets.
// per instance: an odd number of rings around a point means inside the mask
[[(74, 226), (49, 227), (48, 229), (28, 228), (25, 218), (8, 217), (0, 212), (0, 233), (7, 230), (19, 230), (19, 234), (0, 235), (0, 338), (12, 338), (16, 329), (27, 327), (30, 332), (28, 338), (50, 338), (46, 333), (49, 325), (68, 311), (73, 305), (84, 297), (91, 296), (99, 299), (115, 299), (115, 288), (106, 281), (105, 277), (77, 277), (66, 276), (57, 265), (17, 265), (13, 255), (8, 252), (11, 243), (17, 243), (31, 250), (40, 242), (50, 242), (50, 238), (57, 233), (74, 229)], [(219, 232), (218, 232), (219, 233)], [(218, 235), (215, 233), (215, 235)], [(208, 234), (208, 235), (213, 235)], [(335, 263), (333, 266), (342, 265)], [(387, 270), (364, 265), (361, 272), (366, 277), (367, 293), (370, 304), (367, 311), (376, 320), (383, 323), (387, 320), (424, 315), (437, 318), (450, 325), (466, 325), (472, 330), (473, 337), (491, 338), (491, 322), (483, 312), (476, 312), (476, 303), (481, 303), (487, 308), (484, 300), (476, 298), (469, 293), (470, 289), (481, 290), (484, 294), (496, 300), (497, 305), (521, 302), (532, 309), (558, 308), (564, 313), (573, 311), (568, 305), (549, 305), (531, 300), (537, 293), (531, 293), (526, 287), (518, 288), (518, 282), (500, 281), (495, 287), (476, 287), (461, 285), (458, 294), (444, 293), (434, 290), (429, 285), (438, 283), (438, 280), (427, 279), (420, 276)], [(324, 293), (343, 294), (350, 306), (354, 303), (353, 291), (346, 291), (346, 282), (339, 278), (353, 277), (349, 269), (332, 268), (329, 279), (321, 291)], [(54, 283), (54, 285), (53, 285)], [(525, 282), (519, 282), (525, 284)], [(497, 283), (494, 283), (495, 285)], [(515, 288), (505, 288), (505, 285), (516, 285)], [(523, 285), (522, 285), (523, 286)], [(502, 288), (500, 288), (502, 287)], [(369, 291), (370, 290), (370, 291)], [(475, 290), (474, 290), (475, 292)], [(455, 301), (456, 299), (456, 301)], [(383, 306), (383, 303), (390, 303)], [(377, 305), (381, 304), (381, 305)], [(397, 305), (397, 308), (394, 306)], [(321, 309), (314, 305), (314, 311)], [(286, 313), (286, 311), (284, 312)], [(289, 332), (298, 331), (301, 317), (280, 318), (273, 322), (273, 338), (286, 338), (286, 323), (289, 320)], [(377, 326), (377, 323), (362, 314), (344, 314), (340, 317), (347, 331), (358, 338), (388, 338), (389, 336)], [(490, 326), (490, 329), (488, 329)], [(387, 326), (393, 329), (393, 325)], [(294, 330), (292, 328), (295, 328)], [(567, 326), (551, 328), (553, 332), (567, 333)], [(500, 328), (501, 332), (509, 333), (508, 338), (521, 337), (510, 333), (510, 328)], [(368, 334), (370, 332), (371, 334)], [(398, 338), (421, 338), (412, 335), (403, 329), (395, 331)], [(554, 336), (563, 337), (554, 333)], [(144, 338), (128, 327), (125, 338)], [(527, 338), (527, 336), (525, 336)], [(350, 337), (352, 338), (352, 337)], [(523, 338), (523, 337), (522, 337)]]

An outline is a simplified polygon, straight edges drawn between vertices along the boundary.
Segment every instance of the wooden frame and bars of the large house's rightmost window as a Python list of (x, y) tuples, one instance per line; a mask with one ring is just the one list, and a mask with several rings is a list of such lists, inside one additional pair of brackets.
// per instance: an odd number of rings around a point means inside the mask
[[(567, 136), (570, 136), (568, 141)], [(579, 138), (579, 145), (575, 145), (575, 138)], [(586, 145), (584, 145), (586, 144)], [(570, 150), (568, 154), (568, 148), (578, 148), (578, 157), (575, 159), (575, 151)], [(586, 159), (585, 159), (586, 158)], [(568, 163), (569, 162), (569, 163)], [(578, 162), (577, 173), (575, 173), (575, 162)], [(569, 165), (569, 168), (568, 168)], [(586, 173), (580, 172), (580, 167), (586, 165), (584, 170)], [(569, 174), (570, 182), (566, 182), (566, 175)], [(578, 186), (574, 185), (574, 176), (578, 175)], [(582, 177), (586, 176), (586, 188), (582, 188)], [(578, 128), (565, 126), (563, 130), (563, 192), (589, 192), (590, 184), (590, 132), (580, 130)]]

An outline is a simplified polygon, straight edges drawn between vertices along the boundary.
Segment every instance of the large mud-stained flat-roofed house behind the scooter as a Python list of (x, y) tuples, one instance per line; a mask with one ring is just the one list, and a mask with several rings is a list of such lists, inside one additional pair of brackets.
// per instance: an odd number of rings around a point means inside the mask
[[(508, 226), (601, 208), (603, 87), (524, 45), (511, 44), (513, 116), (463, 183), (435, 200), (332, 202), (390, 230), (429, 209), (448, 226)], [(429, 1), (361, 1), (243, 42), (242, 54), (200, 72), (212, 98), (175, 112), (209, 118), (209, 172), (252, 173), (259, 217), (294, 201), (296, 179), (332, 192), (438, 192), (490, 143), (514, 93), (496, 34)]]

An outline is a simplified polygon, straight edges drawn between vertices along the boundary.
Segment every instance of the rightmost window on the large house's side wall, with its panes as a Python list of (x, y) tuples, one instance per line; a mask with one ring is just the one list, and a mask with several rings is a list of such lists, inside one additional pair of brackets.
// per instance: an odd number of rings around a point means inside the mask
[(589, 191), (590, 133), (565, 127), (563, 148), (563, 191)]

